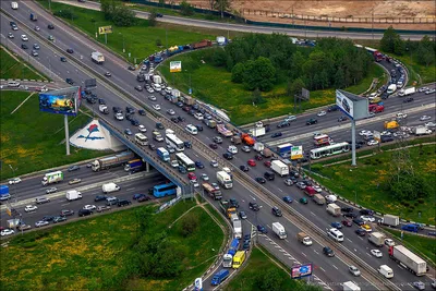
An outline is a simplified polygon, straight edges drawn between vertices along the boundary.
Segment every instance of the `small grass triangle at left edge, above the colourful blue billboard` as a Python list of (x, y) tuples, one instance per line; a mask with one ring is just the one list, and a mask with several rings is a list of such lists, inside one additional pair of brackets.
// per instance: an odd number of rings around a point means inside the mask
[(0, 46), (0, 78), (48, 80), (17, 54), (14, 56), (19, 61), (12, 58), (3, 46)]

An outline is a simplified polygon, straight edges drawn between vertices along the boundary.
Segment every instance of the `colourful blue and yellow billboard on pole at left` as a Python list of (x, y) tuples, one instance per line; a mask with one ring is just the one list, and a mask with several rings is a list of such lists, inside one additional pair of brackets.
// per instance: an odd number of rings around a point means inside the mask
[(81, 87), (49, 90), (39, 94), (39, 110), (75, 117), (81, 106)]

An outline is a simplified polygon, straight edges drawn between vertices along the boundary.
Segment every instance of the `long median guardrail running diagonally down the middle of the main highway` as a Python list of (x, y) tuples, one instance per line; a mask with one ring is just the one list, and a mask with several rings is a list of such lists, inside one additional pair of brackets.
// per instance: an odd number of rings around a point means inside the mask
[[(47, 41), (44, 37), (41, 37), (38, 34), (34, 34), (32, 28), (29, 28), (27, 25), (25, 25), (21, 21), (16, 20), (12, 15), (10, 15), (3, 9), (0, 9), (0, 11), (3, 14), (8, 15), (10, 19), (13, 19), (22, 27), (26, 27), (27, 33), (29, 35), (33, 35), (35, 38), (39, 38), (41, 40), (41, 43), (45, 43), (46, 45), (48, 45), (52, 49), (57, 50), (59, 53), (63, 54), (63, 51), (59, 47), (57, 47), (55, 44), (52, 44), (50, 41)], [(317, 235), (318, 240), (328, 241), (328, 243), (334, 245), (334, 248), (336, 248), (337, 253), (341, 253), (347, 258), (353, 260), (355, 265), (358, 265), (358, 266), (360, 266), (362, 268), (362, 272), (368, 274), (373, 279), (375, 279), (375, 281), (380, 283), (379, 286), (384, 286), (385, 288), (388, 288), (389, 290), (401, 290), (398, 287), (396, 287), (393, 283), (391, 283), (390, 281), (388, 281), (386, 279), (383, 279), (379, 276), (377, 276), (377, 272), (375, 271), (375, 269), (373, 269), (363, 259), (361, 259), (358, 256), (355, 256), (355, 254), (353, 252), (351, 252), (350, 250), (346, 248), (346, 246), (343, 246), (341, 244), (338, 244), (338, 243), (331, 243), (330, 240), (327, 240), (325, 238), (325, 231), (323, 231), (322, 229), (316, 227), (313, 222), (307, 220), (305, 217), (303, 217), (303, 215), (301, 215), (296, 210), (288, 207), (288, 205), (286, 205), (280, 198), (275, 196), (270, 191), (266, 190), (264, 186), (254, 184), (253, 180), (249, 175), (245, 175), (245, 173), (243, 173), (239, 168), (233, 168), (233, 165), (229, 163), (228, 161), (226, 161), (225, 159), (219, 157), (215, 151), (211, 151), (205, 144), (203, 144), (203, 142), (201, 142), (196, 137), (194, 137), (192, 135), (187, 135), (187, 133), (184, 132), (184, 130), (181, 129), (180, 125), (170, 122), (162, 114), (152, 110), (148, 105), (146, 105), (145, 102), (138, 100), (136, 97), (132, 96), (129, 92), (124, 90), (123, 88), (120, 88), (119, 86), (117, 86), (112, 82), (110, 82), (108, 80), (102, 80), (100, 77), (100, 74), (98, 72), (96, 72), (94, 69), (92, 69), (89, 65), (87, 65), (87, 64), (85, 64), (83, 62), (80, 62), (80, 61), (71, 58), (70, 56), (66, 56), (66, 58), (69, 58), (72, 61), (72, 63), (74, 63), (76, 65), (80, 65), (84, 71), (87, 71), (87, 73), (93, 75), (95, 78), (101, 81), (101, 84), (108, 84), (111, 88), (113, 88), (118, 93), (121, 93), (124, 97), (128, 97), (131, 101), (134, 101), (136, 104), (143, 105), (144, 109), (146, 109), (150, 113), (149, 117), (152, 118), (152, 120), (157, 120), (157, 121), (161, 122), (164, 125), (167, 125), (168, 128), (175, 128), (174, 132), (177, 134), (180, 134), (180, 135), (184, 136), (187, 140), (192, 140), (193, 147), (197, 146), (198, 149), (201, 150), (201, 151), (198, 151), (198, 154), (201, 154), (205, 158), (214, 157), (221, 167), (229, 167), (230, 169), (232, 169), (232, 171), (234, 173), (233, 178), (235, 178), (235, 180), (239, 180), (239, 182), (245, 184), (245, 186), (247, 189), (252, 189), (252, 191), (254, 193), (262, 194), (262, 195), (268, 197), (274, 203), (276, 203), (278, 205), (281, 205), (283, 207), (283, 209), (286, 209), (289, 214), (291, 214), (293, 216), (292, 218), (293, 218), (294, 223), (296, 226), (299, 226), (302, 229), (307, 229), (308, 233), (315, 233)], [(118, 129), (116, 131), (119, 133)], [(122, 133), (121, 133), (121, 135), (122, 135)], [(141, 151), (143, 151), (143, 150), (141, 150)], [(156, 157), (154, 157), (154, 159), (156, 159)], [(172, 171), (169, 171), (169, 172), (172, 172)], [(178, 173), (175, 173), (175, 175), (178, 177)]]

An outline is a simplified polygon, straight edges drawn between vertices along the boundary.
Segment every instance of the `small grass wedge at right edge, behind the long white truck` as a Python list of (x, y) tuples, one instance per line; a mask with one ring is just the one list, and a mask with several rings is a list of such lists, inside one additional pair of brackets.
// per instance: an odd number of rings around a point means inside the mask
[(432, 238), (425, 238), (421, 235), (410, 234), (407, 231), (403, 232), (403, 238), (401, 240), (401, 231), (392, 230), (389, 228), (385, 229), (387, 232), (391, 233), (401, 244), (404, 244), (412, 252), (422, 256), (427, 263), (432, 263), (433, 266), (436, 264), (436, 240)]

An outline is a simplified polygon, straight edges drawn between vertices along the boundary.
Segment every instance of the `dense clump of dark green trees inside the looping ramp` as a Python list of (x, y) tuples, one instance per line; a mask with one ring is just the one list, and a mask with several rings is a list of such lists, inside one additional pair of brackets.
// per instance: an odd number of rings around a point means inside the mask
[(323, 38), (308, 49), (286, 35), (252, 34), (216, 49), (210, 61), (232, 72), (232, 82), (267, 92), (283, 82), (291, 87), (295, 81), (308, 89), (354, 85), (366, 76), (373, 59), (347, 39)]

